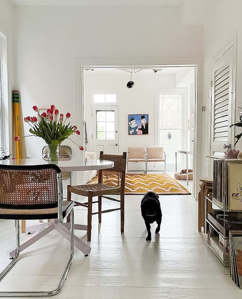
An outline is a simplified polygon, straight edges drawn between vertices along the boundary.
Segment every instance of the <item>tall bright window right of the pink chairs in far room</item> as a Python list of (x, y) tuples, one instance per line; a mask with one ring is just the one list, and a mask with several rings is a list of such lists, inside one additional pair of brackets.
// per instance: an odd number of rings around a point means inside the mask
[[(175, 163), (175, 152), (183, 146), (183, 94), (162, 94), (158, 96), (159, 146), (164, 148), (167, 163)], [(180, 163), (180, 156), (177, 157)]]

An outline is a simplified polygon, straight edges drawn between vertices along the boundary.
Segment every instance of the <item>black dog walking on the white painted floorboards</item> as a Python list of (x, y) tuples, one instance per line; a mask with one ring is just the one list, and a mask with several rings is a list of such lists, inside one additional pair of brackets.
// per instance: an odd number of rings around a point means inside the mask
[(161, 205), (159, 202), (159, 196), (154, 192), (151, 191), (147, 192), (141, 201), (140, 207), (141, 207), (141, 215), (145, 220), (145, 224), (148, 232), (148, 236), (146, 240), (150, 241), (151, 240), (150, 223), (156, 221), (157, 228), (155, 230), (155, 233), (159, 233), (160, 231), (162, 212), (161, 212)]

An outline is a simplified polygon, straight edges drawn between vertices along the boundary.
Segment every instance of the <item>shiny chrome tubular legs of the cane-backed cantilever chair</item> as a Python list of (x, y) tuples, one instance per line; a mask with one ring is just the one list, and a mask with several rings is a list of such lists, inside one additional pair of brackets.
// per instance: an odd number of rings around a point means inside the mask
[[(74, 255), (74, 210), (72, 209), (70, 212), (70, 257), (58, 287), (53, 291), (47, 291), (47, 292), (0, 292), (0, 297), (49, 297), (58, 294), (67, 278), (68, 272), (73, 262), (73, 255)], [(0, 281), (16, 263), (18, 256), (19, 256), (19, 220), (17, 220), (17, 225), (16, 225), (16, 254), (14, 259), (11, 261), (11, 263), (0, 273)]]

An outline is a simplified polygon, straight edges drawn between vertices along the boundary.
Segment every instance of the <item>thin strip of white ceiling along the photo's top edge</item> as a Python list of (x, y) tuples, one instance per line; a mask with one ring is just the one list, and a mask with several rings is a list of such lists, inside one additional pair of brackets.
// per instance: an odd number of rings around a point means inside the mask
[(176, 6), (184, 0), (12, 0), (14, 5)]

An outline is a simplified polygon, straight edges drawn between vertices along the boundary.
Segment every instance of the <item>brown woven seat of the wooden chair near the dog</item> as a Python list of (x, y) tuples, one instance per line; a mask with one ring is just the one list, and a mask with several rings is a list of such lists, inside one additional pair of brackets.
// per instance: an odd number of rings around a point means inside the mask
[(108, 186), (106, 184), (88, 184), (79, 186), (70, 186), (70, 192), (76, 193), (78, 195), (88, 196), (88, 191), (93, 191), (93, 196), (100, 195), (100, 192), (104, 194), (118, 193), (121, 188), (117, 186)]

